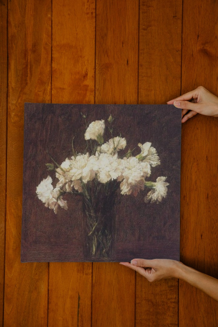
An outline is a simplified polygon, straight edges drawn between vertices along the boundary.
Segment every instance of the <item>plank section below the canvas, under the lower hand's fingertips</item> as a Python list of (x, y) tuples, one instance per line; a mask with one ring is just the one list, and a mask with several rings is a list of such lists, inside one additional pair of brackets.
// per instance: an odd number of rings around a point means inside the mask
[(135, 272), (119, 263), (93, 263), (92, 326), (135, 325)]

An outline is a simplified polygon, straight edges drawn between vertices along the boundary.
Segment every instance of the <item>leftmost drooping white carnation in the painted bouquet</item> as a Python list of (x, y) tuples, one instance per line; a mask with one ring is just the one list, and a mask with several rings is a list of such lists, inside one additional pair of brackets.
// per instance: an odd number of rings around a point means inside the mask
[(67, 210), (67, 202), (59, 197), (60, 190), (52, 186), (52, 178), (48, 176), (43, 179), (36, 188), (38, 198), (45, 204), (46, 208), (53, 209), (57, 214), (58, 206)]

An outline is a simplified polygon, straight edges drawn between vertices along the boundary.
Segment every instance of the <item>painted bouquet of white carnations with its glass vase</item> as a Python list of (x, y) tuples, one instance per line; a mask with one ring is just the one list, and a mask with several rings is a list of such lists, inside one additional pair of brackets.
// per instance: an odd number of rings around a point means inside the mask
[[(88, 257), (107, 259), (113, 255), (115, 240), (115, 202), (122, 197), (143, 194), (143, 205), (158, 206), (165, 201), (170, 187), (167, 176), (152, 179), (161, 165), (161, 153), (148, 140), (129, 147), (126, 135), (114, 135), (116, 116), (84, 123), (86, 146), (75, 150), (76, 133), (69, 143), (72, 156), (58, 163), (54, 156), (46, 163), (48, 176), (36, 185), (36, 194), (46, 208), (57, 215), (69, 210), (66, 196), (80, 197), (85, 217), (85, 250)], [(78, 145), (76, 146), (78, 149)], [(60, 150), (59, 150), (60, 151)], [(48, 149), (49, 153), (49, 149)], [(46, 169), (45, 167), (45, 169)], [(53, 179), (49, 171), (54, 171)], [(40, 202), (39, 202), (40, 205)], [(54, 217), (55, 219), (55, 217)]]

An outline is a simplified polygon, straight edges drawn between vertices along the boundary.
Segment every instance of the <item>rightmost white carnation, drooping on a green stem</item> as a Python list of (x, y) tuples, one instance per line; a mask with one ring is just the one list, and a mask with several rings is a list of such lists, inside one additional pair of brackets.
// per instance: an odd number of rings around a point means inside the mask
[(151, 201), (151, 203), (153, 202), (161, 202), (162, 198), (165, 198), (167, 195), (167, 185), (169, 185), (169, 183), (165, 182), (166, 177), (158, 177), (156, 182), (153, 182), (153, 188), (151, 189), (150, 192), (148, 192), (148, 194), (146, 195), (146, 197), (144, 198), (144, 201), (147, 203), (149, 201)]

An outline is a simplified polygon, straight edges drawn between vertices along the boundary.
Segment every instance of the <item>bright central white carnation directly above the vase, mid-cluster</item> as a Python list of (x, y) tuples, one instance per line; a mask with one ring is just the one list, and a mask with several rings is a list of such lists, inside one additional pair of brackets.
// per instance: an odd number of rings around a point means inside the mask
[(105, 184), (117, 179), (122, 173), (121, 159), (118, 159), (117, 155), (101, 153), (96, 161), (96, 173), (100, 183)]

